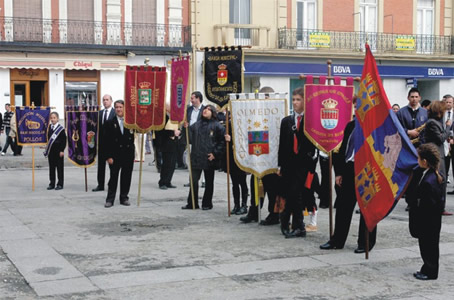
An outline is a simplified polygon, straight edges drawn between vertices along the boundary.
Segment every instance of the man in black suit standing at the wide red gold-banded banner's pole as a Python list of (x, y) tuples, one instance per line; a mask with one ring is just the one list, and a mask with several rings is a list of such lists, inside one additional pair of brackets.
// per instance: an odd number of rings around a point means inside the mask
[(120, 172), (120, 204), (130, 205), (128, 194), (134, 168), (134, 132), (124, 127), (124, 101), (115, 101), (114, 107), (116, 117), (107, 121), (105, 129), (105, 150), (110, 168), (106, 208), (113, 206)]

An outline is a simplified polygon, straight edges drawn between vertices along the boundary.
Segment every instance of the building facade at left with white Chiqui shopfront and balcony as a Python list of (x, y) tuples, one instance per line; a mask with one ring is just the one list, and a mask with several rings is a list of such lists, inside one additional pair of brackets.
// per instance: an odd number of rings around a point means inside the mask
[(126, 65), (190, 51), (186, 0), (0, 0), (0, 106), (124, 98)]

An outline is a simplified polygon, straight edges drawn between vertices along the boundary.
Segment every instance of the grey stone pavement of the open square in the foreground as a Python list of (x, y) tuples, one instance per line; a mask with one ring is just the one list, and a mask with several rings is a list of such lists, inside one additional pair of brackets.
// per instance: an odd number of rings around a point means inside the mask
[[(454, 217), (443, 217), (439, 279), (421, 282), (404, 201), (379, 224), (365, 260), (353, 253), (357, 214), (345, 248), (323, 251), (328, 210), (301, 239), (284, 239), (277, 225), (241, 224), (227, 216), (224, 173), (213, 210), (181, 210), (187, 171), (175, 172), (177, 189), (160, 190), (147, 156), (140, 207), (136, 163), (133, 205), (105, 209), (106, 193), (85, 192), (84, 171), (71, 164), (65, 188), (47, 191), (47, 164), (37, 158), (33, 192), (30, 152), (0, 157), (0, 299), (454, 299)], [(96, 168), (88, 179), (91, 190)]]

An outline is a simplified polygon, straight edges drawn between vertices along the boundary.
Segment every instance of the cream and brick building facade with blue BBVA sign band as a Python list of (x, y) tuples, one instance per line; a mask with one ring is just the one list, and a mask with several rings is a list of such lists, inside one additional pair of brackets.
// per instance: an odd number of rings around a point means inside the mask
[[(454, 93), (453, 0), (191, 0), (196, 47), (251, 45), (245, 90), (291, 92), (300, 74), (360, 77), (370, 45), (388, 98)], [(203, 53), (197, 55), (200, 67)], [(203, 90), (201, 70), (197, 89)], [(356, 84), (356, 83), (355, 83)]]

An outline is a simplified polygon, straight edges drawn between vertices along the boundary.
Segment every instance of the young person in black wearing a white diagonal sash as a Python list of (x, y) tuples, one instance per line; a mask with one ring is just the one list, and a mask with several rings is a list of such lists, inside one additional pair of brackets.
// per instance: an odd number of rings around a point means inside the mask
[[(65, 156), (66, 148), (66, 133), (65, 129), (58, 124), (58, 113), (52, 112), (50, 114), (50, 126), (47, 130), (47, 159), (49, 161), (49, 186), (48, 190), (63, 189), (63, 157)], [(55, 134), (55, 135), (54, 135)], [(55, 187), (55, 169), (57, 169), (58, 182)]]

